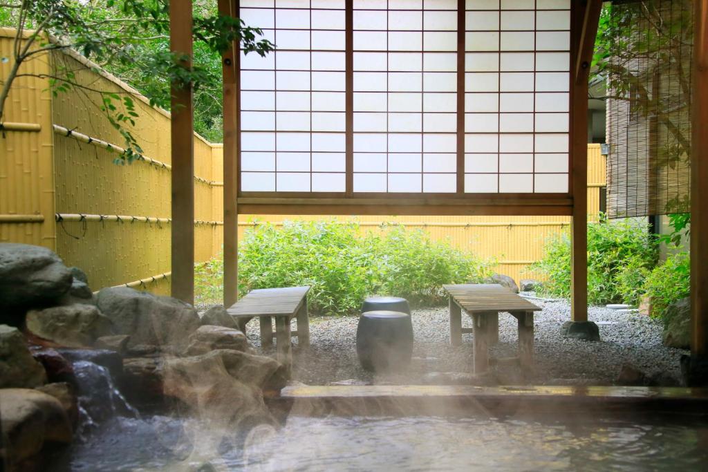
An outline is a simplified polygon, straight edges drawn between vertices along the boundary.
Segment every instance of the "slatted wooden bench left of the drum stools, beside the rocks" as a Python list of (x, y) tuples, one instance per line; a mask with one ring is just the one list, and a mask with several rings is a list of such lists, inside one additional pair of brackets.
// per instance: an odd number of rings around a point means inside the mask
[[(258, 318), (261, 324), (261, 346), (272, 346), (275, 337), (278, 361), (290, 370), (292, 336), (297, 337), (300, 346), (309, 346), (307, 314), (309, 289), (310, 287), (306, 286), (251, 290), (227, 309), (227, 313), (236, 318), (244, 333), (246, 333), (246, 323), (252, 318)], [(297, 331), (290, 330), (290, 320), (293, 316), (297, 316)], [(275, 333), (273, 333), (273, 318), (275, 318)]]

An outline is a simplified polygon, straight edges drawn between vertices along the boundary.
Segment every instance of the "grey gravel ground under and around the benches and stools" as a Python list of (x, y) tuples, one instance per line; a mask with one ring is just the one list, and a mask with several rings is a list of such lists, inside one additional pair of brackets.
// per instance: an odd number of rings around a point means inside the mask
[[(491, 375), (484, 382), (491, 384), (537, 385), (611, 385), (615, 383), (624, 363), (632, 364), (650, 376), (661, 376), (662, 384), (678, 384), (679, 359), (687, 351), (664, 347), (661, 343), (661, 322), (639, 313), (615, 311), (605, 307), (590, 307), (590, 321), (598, 323), (599, 342), (566, 339), (561, 325), (570, 319), (567, 301), (532, 300), (542, 307), (534, 316), (536, 369), (521, 376), (513, 362), (493, 364), (516, 353), (516, 320), (508, 313), (499, 316), (499, 343), (491, 348)], [(356, 355), (358, 318), (310, 318), (311, 348), (300, 351), (294, 345), (293, 378), (309, 385), (333, 382), (372, 384), (450, 383), (430, 381), (430, 372), (470, 372), (472, 369), (472, 334), (463, 335), (463, 343), (452, 347), (447, 306), (418, 309), (413, 318), (413, 360), (405, 372), (372, 376), (359, 365)], [(295, 321), (294, 321), (295, 322)], [(463, 313), (462, 326), (471, 327), (472, 320)], [(293, 326), (295, 329), (295, 326)], [(256, 321), (251, 321), (249, 340), (260, 350)], [(273, 354), (272, 350), (266, 352)]]

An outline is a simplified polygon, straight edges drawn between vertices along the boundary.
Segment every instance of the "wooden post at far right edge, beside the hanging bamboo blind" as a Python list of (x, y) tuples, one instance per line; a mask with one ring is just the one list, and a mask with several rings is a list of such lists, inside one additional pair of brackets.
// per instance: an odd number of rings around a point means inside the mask
[(695, 0), (691, 122), (691, 353), (708, 357), (708, 0)]

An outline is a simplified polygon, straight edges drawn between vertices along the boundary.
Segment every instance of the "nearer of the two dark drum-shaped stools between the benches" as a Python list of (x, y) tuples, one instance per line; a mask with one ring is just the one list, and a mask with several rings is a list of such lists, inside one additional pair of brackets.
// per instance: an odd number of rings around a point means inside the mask
[(369, 371), (406, 367), (413, 355), (411, 316), (400, 311), (367, 311), (359, 318), (356, 352)]

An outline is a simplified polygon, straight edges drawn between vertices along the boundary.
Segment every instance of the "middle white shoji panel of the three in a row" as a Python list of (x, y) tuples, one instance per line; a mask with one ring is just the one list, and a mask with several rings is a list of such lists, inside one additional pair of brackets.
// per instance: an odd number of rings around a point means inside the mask
[(457, 1), (353, 0), (353, 191), (455, 192)]

